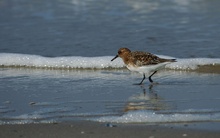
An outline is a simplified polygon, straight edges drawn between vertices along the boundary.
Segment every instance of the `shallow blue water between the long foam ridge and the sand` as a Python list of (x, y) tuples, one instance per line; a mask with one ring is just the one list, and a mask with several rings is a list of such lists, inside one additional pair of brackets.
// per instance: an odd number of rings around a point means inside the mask
[(220, 120), (219, 74), (161, 71), (150, 88), (127, 70), (1, 69), (1, 124)]

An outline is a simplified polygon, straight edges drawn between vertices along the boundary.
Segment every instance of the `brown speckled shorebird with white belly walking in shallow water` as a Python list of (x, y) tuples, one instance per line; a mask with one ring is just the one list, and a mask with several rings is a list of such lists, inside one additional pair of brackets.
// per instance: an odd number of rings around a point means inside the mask
[(176, 62), (176, 59), (159, 58), (158, 56), (149, 52), (131, 52), (131, 50), (129, 50), (128, 48), (120, 48), (118, 50), (118, 54), (111, 61), (115, 60), (118, 57), (122, 58), (126, 67), (130, 71), (135, 71), (143, 74), (143, 79), (140, 83), (138, 83), (138, 85), (141, 85), (145, 80), (145, 74), (150, 73), (152, 74), (148, 77), (148, 79), (151, 83), (153, 83), (151, 77), (155, 73), (157, 73), (158, 70), (163, 69), (167, 64)]

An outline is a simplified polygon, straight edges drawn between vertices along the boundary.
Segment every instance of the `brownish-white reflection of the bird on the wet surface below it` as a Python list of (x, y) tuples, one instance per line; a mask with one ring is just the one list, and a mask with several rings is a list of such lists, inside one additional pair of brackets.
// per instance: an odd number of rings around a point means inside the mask
[(131, 110), (165, 110), (169, 106), (164, 103), (163, 98), (157, 95), (157, 92), (153, 89), (153, 85), (150, 85), (148, 90), (144, 85), (140, 86), (142, 92), (131, 96), (128, 99), (127, 104), (124, 107), (124, 112)]

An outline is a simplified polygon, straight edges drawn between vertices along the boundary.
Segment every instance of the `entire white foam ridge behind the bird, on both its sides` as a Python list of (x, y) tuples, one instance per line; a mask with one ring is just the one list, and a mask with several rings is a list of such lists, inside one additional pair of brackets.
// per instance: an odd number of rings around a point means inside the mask
[[(173, 59), (159, 55), (163, 58)], [(123, 68), (124, 63), (120, 58), (111, 62), (114, 56), (102, 57), (43, 57), (39, 55), (28, 54), (13, 54), (13, 53), (0, 53), (1, 66), (15, 66), (15, 67), (36, 67), (36, 68), (91, 68), (91, 69), (105, 69), (105, 68)], [(185, 58), (177, 59), (177, 62), (166, 65), (169, 69), (180, 70), (195, 70), (198, 66), (202, 65), (220, 65), (219, 58)]]

